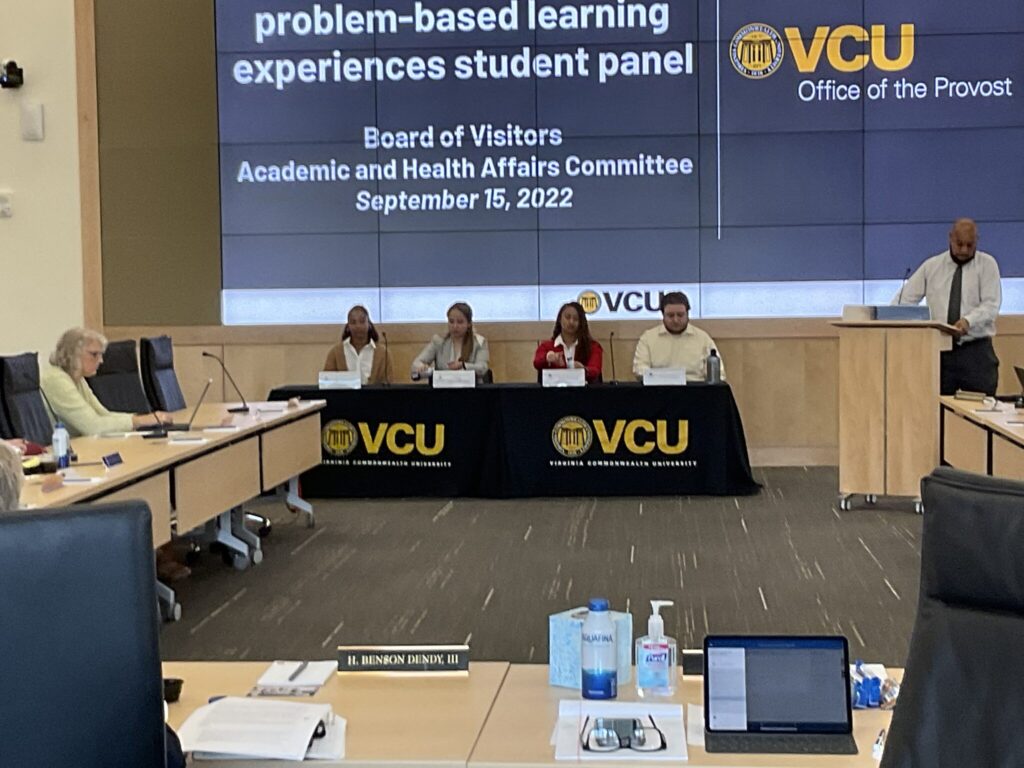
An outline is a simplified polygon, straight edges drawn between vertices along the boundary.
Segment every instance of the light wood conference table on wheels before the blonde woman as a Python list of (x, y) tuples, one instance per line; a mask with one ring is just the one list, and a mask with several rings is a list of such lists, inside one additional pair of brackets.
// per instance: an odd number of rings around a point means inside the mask
[[(75, 437), (78, 455), (62, 484), (49, 489), (53, 475), (30, 475), (22, 490), (28, 509), (141, 499), (153, 518), (153, 546), (173, 532), (205, 526), (205, 540), (225, 547), (237, 568), (262, 559), (259, 538), (242, 519), (241, 505), (267, 492), (284, 492), (311, 525), (313, 509), (298, 496), (297, 478), (319, 463), (319, 418), (324, 402), (252, 403), (231, 414), (227, 404), (204, 403), (193, 430), (148, 439), (140, 433)], [(172, 416), (187, 419), (184, 411)], [(103, 464), (104, 457), (119, 463)], [(177, 620), (181, 607), (163, 584), (158, 591), (165, 615)]]

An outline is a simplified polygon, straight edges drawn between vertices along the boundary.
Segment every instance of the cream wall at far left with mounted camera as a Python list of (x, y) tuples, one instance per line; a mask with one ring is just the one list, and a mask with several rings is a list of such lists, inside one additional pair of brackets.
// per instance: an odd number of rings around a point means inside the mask
[[(2, 0), (0, 58), (26, 84), (0, 91), (0, 354), (48, 352), (83, 321), (74, 0)], [(43, 104), (46, 137), (24, 141), (22, 103)]]

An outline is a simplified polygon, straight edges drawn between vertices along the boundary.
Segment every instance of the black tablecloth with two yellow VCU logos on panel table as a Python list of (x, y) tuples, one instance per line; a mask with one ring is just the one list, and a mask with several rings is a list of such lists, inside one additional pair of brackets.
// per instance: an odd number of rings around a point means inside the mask
[(361, 390), (326, 399), (310, 497), (657, 496), (757, 493), (728, 385), (535, 384)]

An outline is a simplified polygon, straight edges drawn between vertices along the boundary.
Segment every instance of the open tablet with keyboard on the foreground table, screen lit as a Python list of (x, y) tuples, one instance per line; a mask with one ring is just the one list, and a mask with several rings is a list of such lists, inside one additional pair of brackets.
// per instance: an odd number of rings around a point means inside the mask
[(845, 637), (705, 638), (708, 752), (855, 755)]

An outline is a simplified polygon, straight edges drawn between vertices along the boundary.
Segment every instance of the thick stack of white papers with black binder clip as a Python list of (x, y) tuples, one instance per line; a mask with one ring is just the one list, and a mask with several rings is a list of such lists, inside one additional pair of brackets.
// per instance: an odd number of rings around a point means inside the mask
[[(313, 738), (319, 723), (326, 733)], [(201, 707), (181, 726), (181, 748), (204, 760), (339, 760), (345, 719), (330, 705), (227, 696)]]

